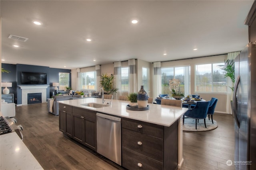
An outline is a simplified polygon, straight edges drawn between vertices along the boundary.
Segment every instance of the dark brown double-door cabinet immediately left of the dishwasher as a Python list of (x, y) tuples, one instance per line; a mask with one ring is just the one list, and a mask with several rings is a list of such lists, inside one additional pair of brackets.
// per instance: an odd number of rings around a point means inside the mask
[(73, 139), (96, 150), (96, 111), (73, 107)]

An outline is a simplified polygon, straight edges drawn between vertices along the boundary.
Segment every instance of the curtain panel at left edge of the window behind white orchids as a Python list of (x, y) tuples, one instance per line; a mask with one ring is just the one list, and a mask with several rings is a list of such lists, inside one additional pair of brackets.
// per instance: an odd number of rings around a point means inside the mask
[(162, 93), (162, 73), (161, 73), (161, 62), (154, 63), (154, 89), (153, 98), (158, 97)]

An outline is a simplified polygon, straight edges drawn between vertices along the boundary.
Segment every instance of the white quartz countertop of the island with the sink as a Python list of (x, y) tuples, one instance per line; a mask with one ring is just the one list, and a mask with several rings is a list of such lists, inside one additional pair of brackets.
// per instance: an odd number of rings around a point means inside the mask
[(127, 117), (139, 121), (145, 121), (148, 123), (154, 123), (157, 125), (170, 126), (176, 120), (178, 120), (188, 109), (174, 106), (165, 106), (159, 104), (148, 104), (150, 109), (145, 111), (132, 111), (126, 109), (126, 105), (129, 101), (124, 100), (110, 100), (104, 99), (105, 104), (112, 102), (111, 106), (94, 108), (88, 106), (82, 106), (85, 103), (98, 103), (102, 104), (101, 98), (81, 98), (76, 100), (64, 100), (59, 103), (67, 104), (70, 106), (80, 107), (84, 109), (90, 109), (101, 113), (107, 113), (110, 115), (116, 115), (120, 117)]

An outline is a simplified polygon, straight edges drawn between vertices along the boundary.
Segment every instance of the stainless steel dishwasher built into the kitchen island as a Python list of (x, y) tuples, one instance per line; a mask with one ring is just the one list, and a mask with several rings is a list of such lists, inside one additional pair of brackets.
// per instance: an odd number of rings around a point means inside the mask
[(121, 118), (96, 113), (97, 152), (122, 165)]

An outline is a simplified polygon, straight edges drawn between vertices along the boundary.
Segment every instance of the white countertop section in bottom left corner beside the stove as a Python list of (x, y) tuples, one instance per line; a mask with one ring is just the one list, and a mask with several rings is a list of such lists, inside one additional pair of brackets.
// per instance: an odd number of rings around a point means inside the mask
[(1, 170), (43, 170), (15, 132), (0, 136)]

